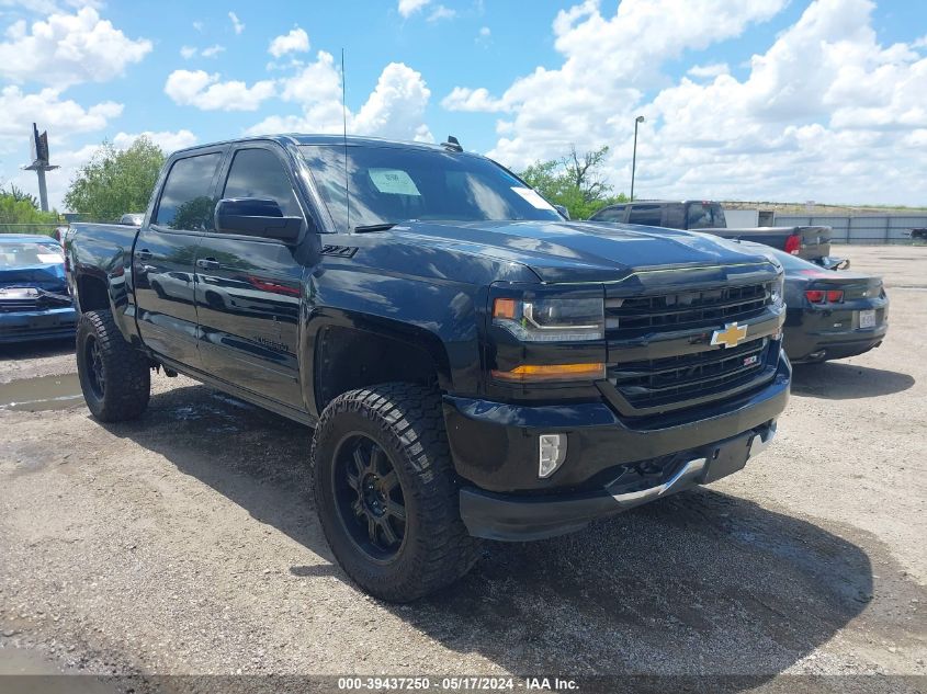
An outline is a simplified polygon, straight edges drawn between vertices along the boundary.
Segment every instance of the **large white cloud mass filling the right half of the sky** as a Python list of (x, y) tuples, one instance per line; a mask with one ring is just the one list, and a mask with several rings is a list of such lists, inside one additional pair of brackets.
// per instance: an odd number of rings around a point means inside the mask
[(501, 112), (489, 155), (516, 168), (570, 144), (609, 145), (617, 191), (628, 190), (643, 114), (635, 187), (647, 196), (923, 202), (927, 58), (913, 44), (880, 45), (870, 0), (810, 2), (757, 47), (744, 79), (711, 60), (677, 80), (662, 73), (784, 4), (623, 0), (604, 16), (584, 2), (553, 23), (559, 67), (498, 95), (455, 88), (442, 105)]

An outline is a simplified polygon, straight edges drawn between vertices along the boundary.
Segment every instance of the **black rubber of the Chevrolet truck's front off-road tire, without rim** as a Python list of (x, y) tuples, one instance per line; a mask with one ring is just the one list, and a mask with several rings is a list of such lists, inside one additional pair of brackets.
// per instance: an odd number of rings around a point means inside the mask
[[(351, 539), (338, 510), (336, 453), (357, 433), (386, 453), (402, 485), (405, 538), (386, 562), (373, 560)], [(453, 583), (476, 564), (479, 544), (460, 516), (441, 398), (433, 388), (394, 383), (339, 396), (315, 430), (312, 466), (316, 511), (331, 551), (371, 595), (409, 602)]]

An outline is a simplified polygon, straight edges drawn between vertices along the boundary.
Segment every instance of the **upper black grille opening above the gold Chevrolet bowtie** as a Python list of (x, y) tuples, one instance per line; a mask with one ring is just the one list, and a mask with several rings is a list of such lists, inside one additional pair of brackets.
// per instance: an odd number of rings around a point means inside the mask
[(771, 302), (772, 286), (747, 284), (656, 296), (606, 299), (609, 340), (624, 340), (652, 332), (715, 328), (758, 316)]

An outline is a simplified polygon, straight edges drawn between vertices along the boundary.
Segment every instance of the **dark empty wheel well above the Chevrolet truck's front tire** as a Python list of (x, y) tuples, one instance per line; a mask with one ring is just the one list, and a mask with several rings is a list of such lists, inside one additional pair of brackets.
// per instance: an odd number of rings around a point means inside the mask
[(325, 328), (315, 362), (318, 411), (348, 390), (382, 383), (438, 384), (438, 369), (419, 344), (365, 330)]

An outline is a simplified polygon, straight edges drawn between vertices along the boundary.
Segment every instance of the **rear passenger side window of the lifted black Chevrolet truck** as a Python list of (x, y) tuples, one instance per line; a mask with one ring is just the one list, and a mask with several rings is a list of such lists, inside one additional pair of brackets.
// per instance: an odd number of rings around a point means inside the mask
[(213, 177), (221, 161), (219, 152), (174, 161), (165, 181), (155, 224), (169, 229), (211, 230), (216, 205), (211, 195)]

